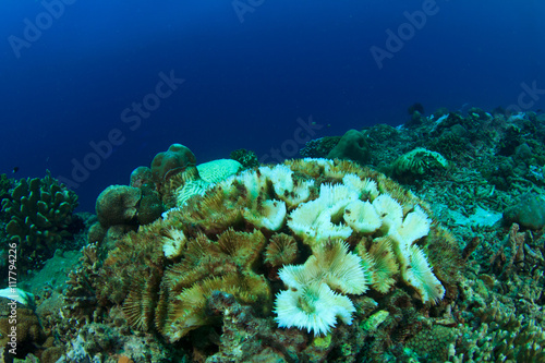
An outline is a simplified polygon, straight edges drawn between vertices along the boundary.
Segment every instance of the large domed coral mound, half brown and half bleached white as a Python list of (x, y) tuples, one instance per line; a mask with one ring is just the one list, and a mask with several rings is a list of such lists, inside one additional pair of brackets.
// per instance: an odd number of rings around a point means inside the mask
[[(328, 334), (337, 317), (352, 322), (363, 293), (382, 299), (402, 289), (420, 308), (446, 306), (457, 286), (438, 278), (447, 275), (440, 261), (458, 252), (438, 228), (422, 201), (384, 174), (350, 161), (286, 161), (220, 181), (121, 238), (97, 300), (121, 304), (133, 328), (170, 342), (220, 323), (207, 310), (214, 291), (262, 317), (275, 306), (282, 327)], [(272, 258), (279, 250), (284, 256)], [(443, 250), (452, 256), (435, 256)], [(288, 290), (274, 278), (279, 263), (296, 263), (279, 270)], [(317, 322), (319, 312), (329, 315)]]

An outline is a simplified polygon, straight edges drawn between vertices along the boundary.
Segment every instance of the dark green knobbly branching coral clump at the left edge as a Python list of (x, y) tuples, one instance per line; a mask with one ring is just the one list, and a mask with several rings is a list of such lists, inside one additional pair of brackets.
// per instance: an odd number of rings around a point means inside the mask
[(5, 232), (10, 241), (17, 243), (19, 264), (39, 266), (50, 258), (69, 230), (72, 213), (77, 206), (77, 195), (51, 177), (21, 179), (8, 197), (2, 209), (9, 218)]

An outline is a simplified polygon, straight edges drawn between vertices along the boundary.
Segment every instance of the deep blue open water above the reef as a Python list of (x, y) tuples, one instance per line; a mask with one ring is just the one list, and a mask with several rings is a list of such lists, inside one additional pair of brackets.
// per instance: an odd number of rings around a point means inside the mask
[(238, 148), (275, 161), (311, 136), (399, 125), (416, 101), (427, 113), (545, 105), (537, 0), (5, 0), (0, 10), (0, 172), (49, 169), (80, 210), (172, 143), (198, 162)]

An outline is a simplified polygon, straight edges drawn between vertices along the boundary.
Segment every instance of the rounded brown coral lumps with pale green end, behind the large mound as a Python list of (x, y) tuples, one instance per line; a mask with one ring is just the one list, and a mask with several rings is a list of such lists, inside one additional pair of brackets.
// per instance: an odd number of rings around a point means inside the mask
[[(108, 231), (136, 229), (152, 223), (167, 208), (182, 207), (191, 197), (204, 195), (216, 183), (237, 173), (241, 164), (219, 159), (195, 166), (195, 156), (181, 145), (173, 144), (156, 155), (152, 168), (137, 167), (131, 173), (130, 185), (110, 185), (96, 202), (98, 223), (88, 241), (109, 244)], [(113, 230), (111, 231), (113, 232)]]

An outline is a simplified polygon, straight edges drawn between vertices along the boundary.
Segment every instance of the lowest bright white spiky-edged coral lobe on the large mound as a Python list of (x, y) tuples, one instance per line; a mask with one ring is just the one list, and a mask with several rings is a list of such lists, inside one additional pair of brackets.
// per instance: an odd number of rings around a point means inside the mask
[(275, 302), (275, 320), (280, 327), (298, 327), (318, 336), (327, 335), (337, 324), (337, 317), (344, 324), (352, 324), (353, 312), (355, 307), (350, 299), (325, 283), (281, 291)]

